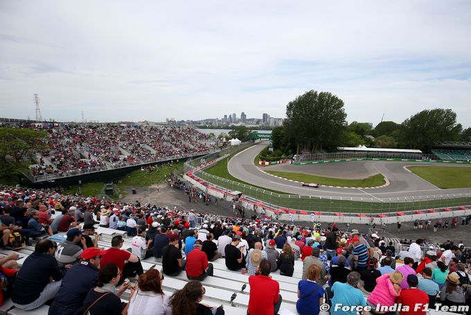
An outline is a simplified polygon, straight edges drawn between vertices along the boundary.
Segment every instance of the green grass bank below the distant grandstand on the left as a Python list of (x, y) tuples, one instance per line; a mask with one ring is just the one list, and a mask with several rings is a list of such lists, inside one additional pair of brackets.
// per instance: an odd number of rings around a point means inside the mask
[[(115, 180), (118, 182), (117, 187), (120, 189), (120, 194), (125, 196), (126, 187), (148, 187), (165, 180), (165, 175), (168, 176), (169, 173), (178, 173), (183, 172), (184, 162), (178, 162), (172, 166), (159, 166), (157, 171), (141, 171), (136, 169), (122, 178)], [(105, 186), (105, 182), (85, 182), (81, 185), (82, 187), (82, 196), (94, 196), (102, 194), (102, 189)], [(78, 185), (73, 185), (70, 189), (66, 189), (66, 194), (78, 194)]]

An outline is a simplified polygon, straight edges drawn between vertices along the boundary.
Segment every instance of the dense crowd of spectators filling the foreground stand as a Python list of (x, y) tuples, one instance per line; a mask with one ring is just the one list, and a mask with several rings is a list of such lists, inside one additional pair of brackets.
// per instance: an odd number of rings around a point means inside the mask
[[(283, 287), (270, 273), (278, 270), (284, 277), (301, 275), (299, 314), (319, 314), (324, 296), (332, 305), (373, 308), (471, 305), (471, 253), (450, 241), (424, 253), (417, 239), (398, 250), (377, 233), (341, 232), (335, 224), (306, 227), (12, 187), (0, 189), (0, 211), (2, 246), (12, 245), (12, 232), (39, 237), (21, 268), (17, 253), (0, 258), (2, 298), (11, 297), (19, 309), (49, 303), (49, 314), (224, 314), (201, 303), (214, 264), (249, 275), (249, 314), (277, 314)], [(124, 229), (130, 248), (121, 235), (109, 249), (98, 248), (96, 225)], [(66, 239), (56, 243), (57, 234)], [(143, 271), (150, 257), (161, 271)], [(188, 281), (168, 296), (165, 277)], [(401, 314), (425, 314), (425, 308)]]

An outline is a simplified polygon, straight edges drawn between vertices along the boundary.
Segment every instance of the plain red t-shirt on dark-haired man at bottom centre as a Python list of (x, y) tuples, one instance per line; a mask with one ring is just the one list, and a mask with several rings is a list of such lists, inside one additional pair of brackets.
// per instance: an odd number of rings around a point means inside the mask
[(274, 305), (280, 298), (280, 284), (267, 275), (251, 275), (249, 284), (249, 313), (273, 315)]

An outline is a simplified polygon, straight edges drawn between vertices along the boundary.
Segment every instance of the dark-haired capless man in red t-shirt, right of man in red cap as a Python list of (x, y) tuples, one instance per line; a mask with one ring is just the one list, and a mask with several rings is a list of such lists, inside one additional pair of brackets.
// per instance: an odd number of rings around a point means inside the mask
[(142, 275), (143, 269), (141, 260), (136, 255), (121, 249), (124, 240), (121, 235), (112, 238), (112, 247), (106, 250), (101, 257), (100, 267), (107, 264), (116, 264), (121, 271), (121, 279), (118, 284), (122, 284), (126, 278), (133, 278), (136, 275)]

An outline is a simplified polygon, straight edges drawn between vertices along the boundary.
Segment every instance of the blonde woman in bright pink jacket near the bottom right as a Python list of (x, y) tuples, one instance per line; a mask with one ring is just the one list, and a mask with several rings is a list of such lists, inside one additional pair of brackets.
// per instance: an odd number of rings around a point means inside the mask
[[(393, 306), (396, 298), (400, 295), (400, 285), (404, 280), (404, 275), (399, 271), (394, 271), (393, 273), (386, 273), (380, 278), (376, 279), (376, 287), (371, 292), (370, 296), (366, 300), (368, 305), (372, 306), (373, 309), (376, 308), (376, 305), (381, 306)], [(372, 314), (394, 314), (394, 312), (373, 312)]]

